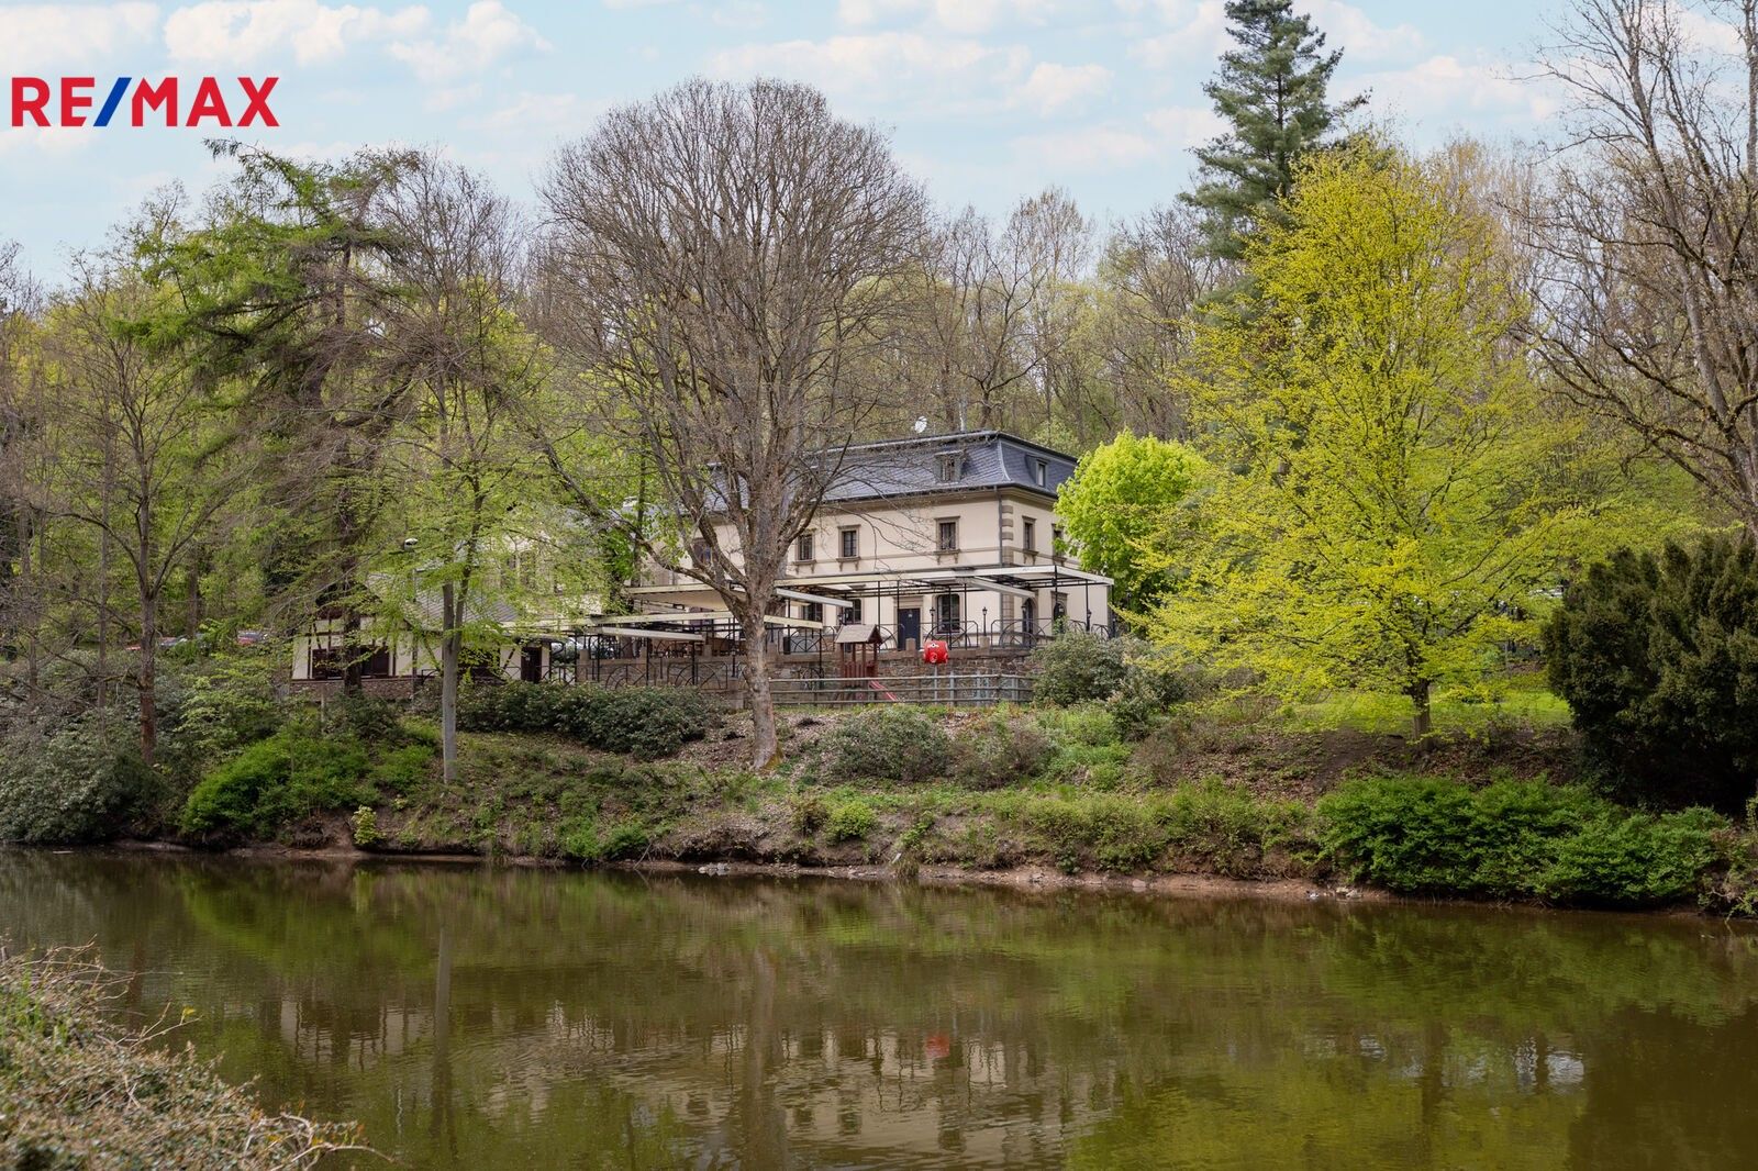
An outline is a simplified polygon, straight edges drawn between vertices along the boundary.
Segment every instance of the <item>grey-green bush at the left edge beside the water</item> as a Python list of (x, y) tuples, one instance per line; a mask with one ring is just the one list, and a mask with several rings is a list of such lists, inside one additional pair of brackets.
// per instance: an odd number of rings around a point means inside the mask
[(98, 842), (125, 832), (160, 795), (134, 726), (86, 717), (0, 754), (0, 840)]

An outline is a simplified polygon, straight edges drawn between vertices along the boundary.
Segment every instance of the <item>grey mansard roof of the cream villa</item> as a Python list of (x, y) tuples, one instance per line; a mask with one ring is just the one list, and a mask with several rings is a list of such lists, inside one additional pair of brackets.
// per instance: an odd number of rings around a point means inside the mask
[[(956, 475), (942, 478), (942, 457), (956, 457)], [(1035, 468), (1044, 464), (1044, 482)], [(1006, 431), (960, 431), (925, 434), (884, 443), (851, 447), (842, 475), (825, 494), (825, 503), (1021, 489), (1055, 498), (1057, 487), (1074, 475), (1074, 457)]]

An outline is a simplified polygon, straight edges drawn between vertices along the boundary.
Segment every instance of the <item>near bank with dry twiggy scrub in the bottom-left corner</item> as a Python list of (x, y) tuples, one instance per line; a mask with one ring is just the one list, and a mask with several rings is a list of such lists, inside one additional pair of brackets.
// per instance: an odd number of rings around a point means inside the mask
[(7, 1167), (309, 1167), (364, 1150), (353, 1127), (265, 1113), (190, 1051), (167, 1016), (118, 1023), (128, 979), (86, 951), (0, 948), (0, 1164)]

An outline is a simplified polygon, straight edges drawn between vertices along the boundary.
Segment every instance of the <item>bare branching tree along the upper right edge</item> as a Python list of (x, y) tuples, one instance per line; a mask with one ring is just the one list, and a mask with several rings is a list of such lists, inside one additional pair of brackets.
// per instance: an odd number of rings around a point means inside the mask
[(1540, 353), (1758, 535), (1758, 0), (1577, 0)]

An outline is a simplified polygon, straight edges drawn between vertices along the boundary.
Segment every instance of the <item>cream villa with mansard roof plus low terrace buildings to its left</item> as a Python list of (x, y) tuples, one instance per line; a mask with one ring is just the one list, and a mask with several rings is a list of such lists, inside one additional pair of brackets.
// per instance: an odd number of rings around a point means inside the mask
[[(784, 665), (805, 658), (840, 673), (854, 661), (865, 672), (879, 658), (914, 661), (930, 638), (955, 656), (1018, 656), (1062, 629), (1109, 631), (1111, 580), (1064, 550), (1057, 487), (1072, 473), (1074, 457), (1000, 431), (849, 448), (793, 545), (772, 649)], [(731, 526), (717, 536), (737, 556)], [(635, 614), (607, 615), (585, 601), (471, 615), (505, 635), (473, 670), (529, 682), (730, 684), (738, 633), (712, 589), (649, 566), (624, 593)], [(294, 680), (336, 686), (345, 663), (360, 663), (373, 689), (413, 689), (438, 672), (438, 642), (420, 635), (438, 629), (436, 610), (429, 600), (401, 626), (355, 631), (318, 617), (295, 640)]]

